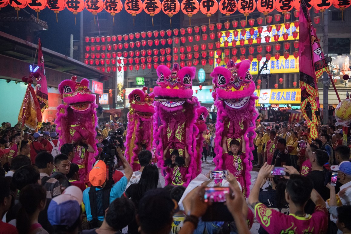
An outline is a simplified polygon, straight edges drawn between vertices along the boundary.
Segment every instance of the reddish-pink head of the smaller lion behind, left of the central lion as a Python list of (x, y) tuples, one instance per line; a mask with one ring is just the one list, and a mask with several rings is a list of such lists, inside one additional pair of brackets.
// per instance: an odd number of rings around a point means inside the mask
[(147, 87), (143, 87), (143, 90), (134, 89), (129, 95), (129, 103), (134, 112), (142, 117), (150, 119), (155, 113), (154, 106), (152, 105), (155, 95), (146, 93)]

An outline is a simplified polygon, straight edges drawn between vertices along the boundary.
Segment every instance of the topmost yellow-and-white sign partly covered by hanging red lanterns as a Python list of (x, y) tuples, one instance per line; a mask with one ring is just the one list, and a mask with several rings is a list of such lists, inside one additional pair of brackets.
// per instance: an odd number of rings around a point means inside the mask
[(246, 29), (246, 33), (245, 35), (241, 35), (240, 33), (240, 29), (238, 30), (238, 35), (236, 37), (234, 37), (234, 34), (233, 34), (233, 31), (234, 30), (229, 30), (230, 34), (229, 34), (229, 37), (227, 38), (225, 36), (225, 32), (226, 31), (222, 31), (222, 37), (220, 38), (220, 43), (221, 43), (221, 47), (224, 47), (224, 41), (228, 41), (229, 42), (229, 46), (232, 46), (232, 40), (236, 40), (237, 41), (237, 45), (239, 45), (239, 40), (240, 39), (245, 39), (245, 45), (249, 45), (249, 42), (247, 41), (247, 39), (249, 39), (250, 37), (252, 37), (253, 41), (252, 41), (252, 44), (257, 44), (256, 42), (256, 38), (257, 37), (261, 37), (261, 44), (265, 44), (266, 43), (266, 40), (265, 40), (265, 36), (269, 35), (271, 38), (270, 38), (270, 41), (274, 41), (273, 40), (273, 35), (274, 34), (278, 34), (279, 35), (279, 40), (278, 41), (284, 41), (283, 39), (283, 33), (288, 33), (289, 34), (289, 37), (287, 38), (287, 40), (298, 40), (299, 39), (299, 36), (297, 36), (296, 39), (294, 39), (292, 37), (292, 32), (296, 31), (298, 32), (299, 31), (299, 28), (296, 28), (294, 23), (290, 23), (290, 28), (289, 29), (286, 29), (284, 27), (284, 24), (280, 24), (280, 30), (277, 31), (276, 28), (272, 28), (272, 31), (269, 33), (267, 32), (267, 26), (262, 26), (263, 27), (263, 30), (262, 30), (262, 33), (261, 35), (259, 35), (258, 31), (257, 31), (257, 27), (253, 27), (254, 28), (254, 33), (253, 35), (250, 34), (249, 32), (249, 29), (250, 28), (245, 28)]

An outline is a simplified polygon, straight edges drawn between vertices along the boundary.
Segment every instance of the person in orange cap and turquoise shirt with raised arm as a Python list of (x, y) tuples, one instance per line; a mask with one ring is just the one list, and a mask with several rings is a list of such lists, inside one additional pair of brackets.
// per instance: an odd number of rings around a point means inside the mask
[(125, 172), (124, 176), (117, 183), (110, 186), (110, 183), (107, 183), (109, 181), (106, 180), (106, 163), (98, 160), (89, 174), (89, 181), (92, 187), (85, 189), (83, 192), (83, 202), (91, 228), (101, 226), (102, 221), (104, 221), (105, 210), (111, 202), (122, 196), (133, 174), (131, 166), (122, 154), (120, 145), (116, 151)]

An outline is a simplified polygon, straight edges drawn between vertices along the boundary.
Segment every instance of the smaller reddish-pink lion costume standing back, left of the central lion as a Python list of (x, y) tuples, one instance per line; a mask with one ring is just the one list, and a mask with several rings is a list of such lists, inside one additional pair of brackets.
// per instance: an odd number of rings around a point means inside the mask
[(148, 95), (146, 90), (147, 87), (143, 87), (143, 90), (135, 89), (128, 95), (131, 107), (128, 113), (125, 156), (133, 171), (140, 170), (139, 151), (144, 149), (151, 151), (152, 146), (154, 95), (153, 93)]

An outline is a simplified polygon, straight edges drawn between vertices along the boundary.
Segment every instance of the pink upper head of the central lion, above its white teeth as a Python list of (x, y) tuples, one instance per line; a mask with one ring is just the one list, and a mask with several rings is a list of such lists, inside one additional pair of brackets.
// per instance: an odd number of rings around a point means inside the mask
[(196, 67), (183, 67), (173, 64), (170, 71), (167, 66), (157, 67), (157, 85), (153, 92), (159, 97), (191, 98), (193, 95), (192, 80), (195, 78)]

